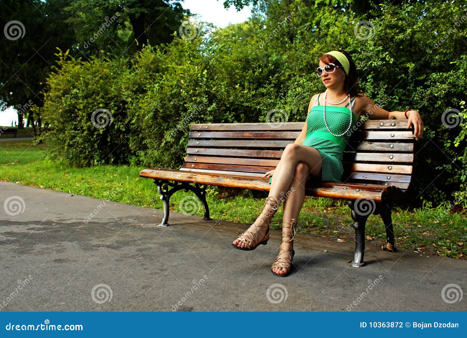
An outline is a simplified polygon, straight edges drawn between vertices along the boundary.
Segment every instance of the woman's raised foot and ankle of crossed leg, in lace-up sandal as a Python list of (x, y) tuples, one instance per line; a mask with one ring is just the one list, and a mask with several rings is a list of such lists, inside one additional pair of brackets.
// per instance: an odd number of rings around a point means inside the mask
[[(265, 208), (268, 204), (269, 207)], [(266, 237), (269, 239), (269, 223), (271, 223), (271, 218), (274, 216), (278, 208), (279, 201), (277, 201), (276, 197), (269, 196), (266, 198), (263, 210), (256, 218), (255, 223), (239, 235), (239, 238), (235, 239), (232, 245), (239, 249), (253, 250), (257, 245), (259, 245), (259, 243), (262, 243)]]

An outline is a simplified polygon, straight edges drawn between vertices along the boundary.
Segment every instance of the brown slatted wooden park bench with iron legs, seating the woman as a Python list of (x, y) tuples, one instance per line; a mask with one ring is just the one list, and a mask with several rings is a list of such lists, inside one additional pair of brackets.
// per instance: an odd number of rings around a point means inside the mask
[[(158, 226), (167, 226), (169, 200), (176, 191), (191, 190), (204, 207), (204, 220), (211, 220), (205, 198), (208, 185), (269, 191), (269, 177), (262, 175), (279, 163), (283, 149), (300, 134), (304, 122), (192, 124), (183, 165), (178, 170), (144, 169), (140, 177), (154, 180), (163, 201), (164, 216)], [(363, 266), (365, 223), (373, 213), (386, 227), (382, 249), (396, 251), (392, 226), (392, 201), (410, 186), (414, 158), (413, 126), (407, 120), (368, 120), (352, 133), (344, 151), (342, 182), (305, 184), (307, 196), (347, 200), (355, 229), (352, 266)], [(171, 187), (171, 188), (170, 188)]]

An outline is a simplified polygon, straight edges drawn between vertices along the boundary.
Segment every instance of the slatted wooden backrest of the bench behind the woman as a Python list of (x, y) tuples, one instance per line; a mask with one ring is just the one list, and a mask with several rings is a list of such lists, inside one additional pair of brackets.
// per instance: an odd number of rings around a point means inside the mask
[[(405, 191), (412, 174), (413, 127), (407, 120), (368, 120), (350, 137), (342, 182), (395, 186)], [(258, 176), (279, 163), (304, 122), (205, 123), (190, 126), (180, 170)]]

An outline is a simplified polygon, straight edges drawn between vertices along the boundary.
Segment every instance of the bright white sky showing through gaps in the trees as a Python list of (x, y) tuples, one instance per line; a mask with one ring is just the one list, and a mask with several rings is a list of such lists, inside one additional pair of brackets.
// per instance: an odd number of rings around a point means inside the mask
[[(224, 0), (185, 0), (182, 2), (184, 8), (189, 8), (191, 13), (199, 14), (201, 21), (212, 22), (217, 27), (226, 27), (229, 23), (244, 22), (250, 17), (251, 11), (248, 7), (243, 7), (237, 12), (234, 6), (228, 10), (224, 8)], [(18, 122), (16, 110), (8, 108), (4, 112), (0, 111), (0, 126), (11, 126), (11, 120)]]

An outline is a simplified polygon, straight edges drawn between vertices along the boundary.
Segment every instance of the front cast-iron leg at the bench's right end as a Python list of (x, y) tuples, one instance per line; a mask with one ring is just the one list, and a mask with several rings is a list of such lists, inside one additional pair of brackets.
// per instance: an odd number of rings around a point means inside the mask
[(365, 265), (363, 261), (365, 255), (365, 223), (367, 223), (368, 216), (375, 211), (376, 206), (374, 201), (361, 199), (347, 200), (347, 205), (354, 220), (352, 227), (355, 229), (355, 253), (351, 264), (355, 267), (361, 267)]

